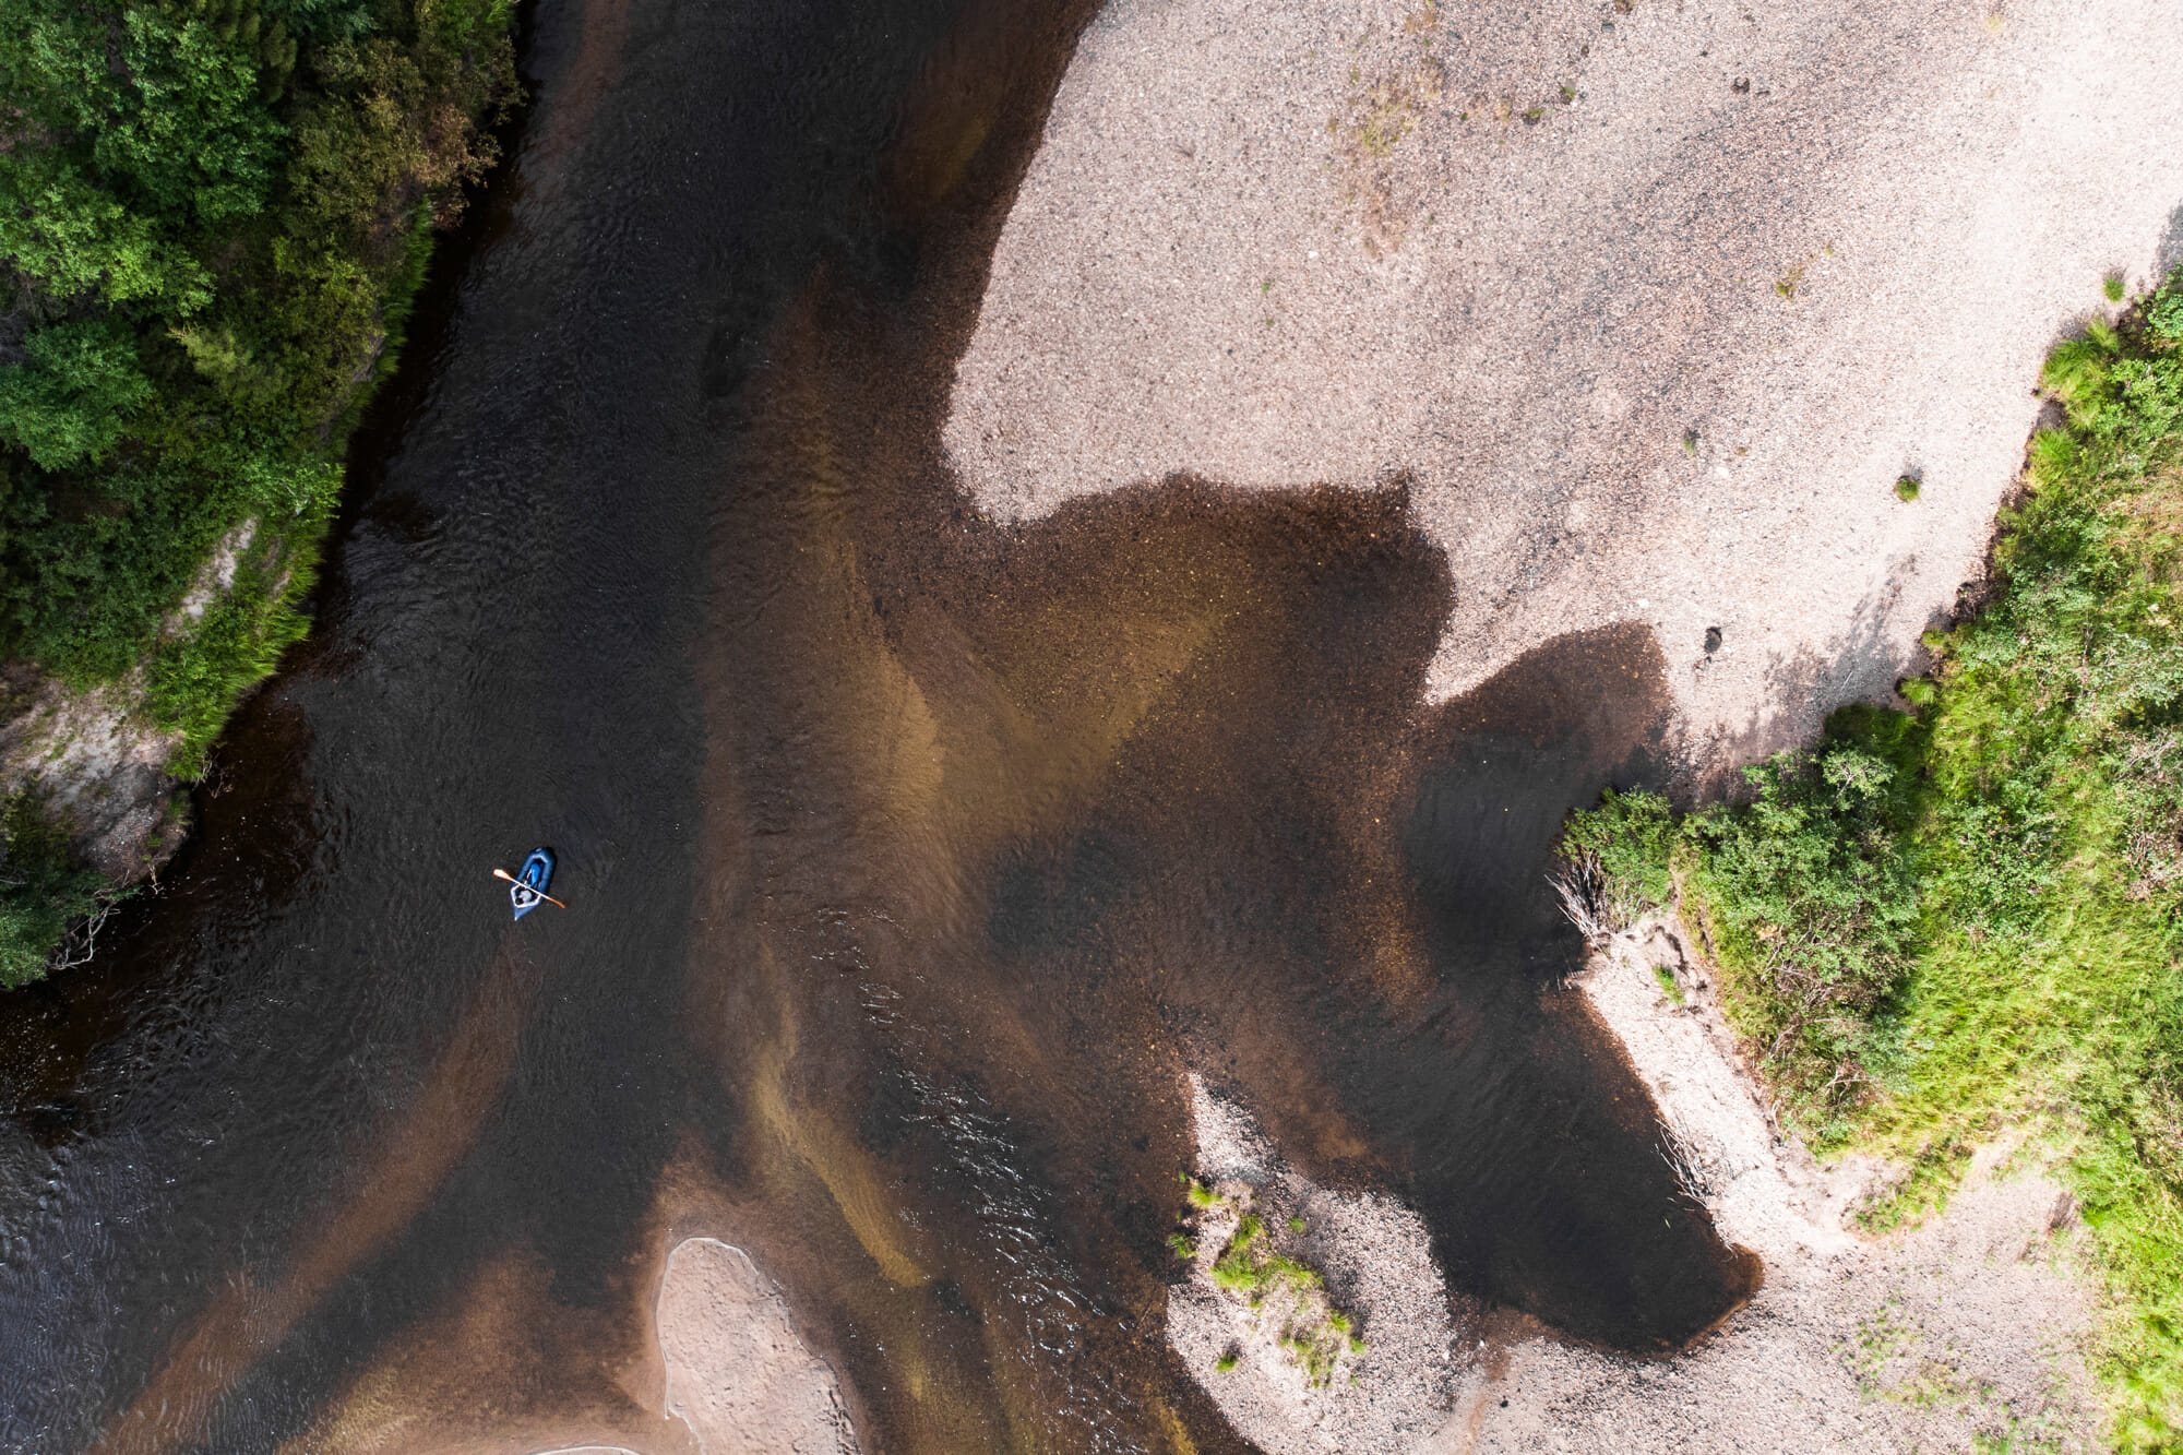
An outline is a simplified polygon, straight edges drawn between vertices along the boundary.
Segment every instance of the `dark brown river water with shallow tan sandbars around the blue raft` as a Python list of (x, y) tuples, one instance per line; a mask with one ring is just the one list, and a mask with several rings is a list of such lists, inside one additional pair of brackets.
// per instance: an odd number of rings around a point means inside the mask
[[(164, 891), (0, 1005), (4, 1448), (627, 1427), (692, 1232), (867, 1451), (1242, 1448), (1161, 1337), (1192, 1068), (1467, 1309), (1650, 1355), (1749, 1291), (1541, 883), (1650, 769), (1650, 638), (1425, 710), (1399, 492), (954, 492), (1085, 17), (526, 15), (314, 640)], [(572, 909), (511, 926), (535, 843)]]

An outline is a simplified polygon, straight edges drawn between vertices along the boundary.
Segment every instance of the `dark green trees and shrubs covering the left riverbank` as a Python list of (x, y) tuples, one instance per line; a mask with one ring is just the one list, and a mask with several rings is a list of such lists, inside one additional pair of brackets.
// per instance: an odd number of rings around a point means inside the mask
[(177, 839), (87, 863), (24, 721), (98, 703), (194, 780), (303, 638), (349, 433), (520, 100), (511, 22), (0, 0), (0, 987)]

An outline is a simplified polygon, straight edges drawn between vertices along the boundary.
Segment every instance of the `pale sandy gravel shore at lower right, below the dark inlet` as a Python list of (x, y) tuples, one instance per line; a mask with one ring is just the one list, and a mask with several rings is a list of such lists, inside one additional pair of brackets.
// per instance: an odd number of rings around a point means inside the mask
[[(1690, 1195), (1764, 1258), (1764, 1287), (1668, 1359), (1570, 1346), (1452, 1298), (1408, 1208), (1314, 1188), (1194, 1084), (1198, 1175), (1251, 1184), (1271, 1217), (1308, 1208), (1308, 1256), (1371, 1330), (1358, 1383), (1310, 1389), (1196, 1267), (1170, 1296), (1168, 1339), (1246, 1440), (1271, 1455), (2107, 1448), (2083, 1226), (2035, 1149), (1987, 1147), (1943, 1215), (1860, 1237), (1849, 1217), (1884, 1169), (1821, 1169), (1775, 1140), (1672, 924), (1615, 937), (1580, 987), (1681, 1140)], [(1222, 1352), (1242, 1357), (1220, 1370)]]

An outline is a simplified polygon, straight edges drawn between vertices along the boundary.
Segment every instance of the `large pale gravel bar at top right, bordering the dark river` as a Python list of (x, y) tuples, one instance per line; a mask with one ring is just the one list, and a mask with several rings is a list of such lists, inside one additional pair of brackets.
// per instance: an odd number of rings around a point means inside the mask
[(2043, 352), (2183, 253), (2179, 81), (2142, 0), (1113, 0), (947, 448), (995, 518), (1406, 478), (1432, 695), (1642, 620), (1694, 747), (1779, 743), (1912, 660)]

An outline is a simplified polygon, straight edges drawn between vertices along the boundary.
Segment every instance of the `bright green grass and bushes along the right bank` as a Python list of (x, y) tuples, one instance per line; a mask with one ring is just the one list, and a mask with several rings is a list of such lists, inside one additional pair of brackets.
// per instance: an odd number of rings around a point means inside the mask
[[(1888, 1158), (1869, 1230), (2019, 1127), (2061, 1158), (2109, 1300), (2120, 1448), (2183, 1433), (2183, 269), (2059, 345), (1987, 594), (1821, 741), (1679, 813), (1563, 830), (1594, 937), (1672, 907), (1784, 1132)], [(1906, 498), (1904, 509), (1917, 509)]]

